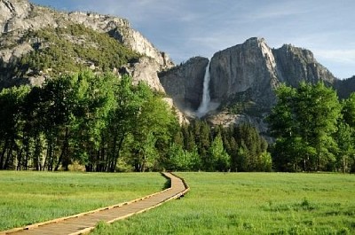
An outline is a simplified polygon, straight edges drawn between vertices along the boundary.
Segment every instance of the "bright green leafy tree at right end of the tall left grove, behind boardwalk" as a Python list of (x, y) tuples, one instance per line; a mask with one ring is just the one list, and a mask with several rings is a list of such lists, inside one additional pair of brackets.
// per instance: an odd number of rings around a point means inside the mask
[(145, 83), (138, 84), (139, 94), (145, 98), (132, 129), (132, 156), (136, 171), (161, 168), (172, 138), (177, 119), (168, 104), (155, 96)]

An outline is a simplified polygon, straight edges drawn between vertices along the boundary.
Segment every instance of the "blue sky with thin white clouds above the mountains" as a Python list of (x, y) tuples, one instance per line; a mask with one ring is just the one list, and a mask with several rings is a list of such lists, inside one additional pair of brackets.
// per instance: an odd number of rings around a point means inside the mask
[(355, 75), (354, 0), (29, 0), (57, 10), (98, 12), (130, 21), (179, 64), (264, 37), (311, 50), (338, 78)]

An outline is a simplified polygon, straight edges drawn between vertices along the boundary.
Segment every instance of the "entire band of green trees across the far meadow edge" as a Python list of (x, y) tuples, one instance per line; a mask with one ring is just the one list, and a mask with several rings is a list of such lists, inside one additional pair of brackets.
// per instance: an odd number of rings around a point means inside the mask
[(355, 95), (339, 101), (305, 82), (276, 94), (268, 145), (248, 123), (180, 125), (164, 95), (128, 75), (87, 71), (3, 89), (0, 169), (353, 172)]

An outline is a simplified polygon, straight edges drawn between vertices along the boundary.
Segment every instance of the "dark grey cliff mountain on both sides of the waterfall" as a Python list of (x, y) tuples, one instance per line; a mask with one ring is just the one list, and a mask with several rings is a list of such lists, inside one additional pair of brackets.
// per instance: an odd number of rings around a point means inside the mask
[[(160, 75), (164, 89), (180, 106), (197, 109), (207, 63), (190, 59)], [(221, 106), (207, 114), (207, 120), (215, 125), (252, 122), (261, 132), (267, 130), (264, 117), (276, 102), (274, 89), (281, 82), (296, 87), (301, 81), (322, 81), (344, 94), (355, 90), (354, 78), (336, 79), (311, 51), (288, 44), (271, 49), (256, 37), (215, 53), (209, 71), (210, 98)]]

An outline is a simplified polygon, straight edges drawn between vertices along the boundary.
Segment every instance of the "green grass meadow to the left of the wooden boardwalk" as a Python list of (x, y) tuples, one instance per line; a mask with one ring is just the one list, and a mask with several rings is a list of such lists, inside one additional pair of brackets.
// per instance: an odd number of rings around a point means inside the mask
[(0, 231), (159, 192), (159, 173), (0, 171)]

